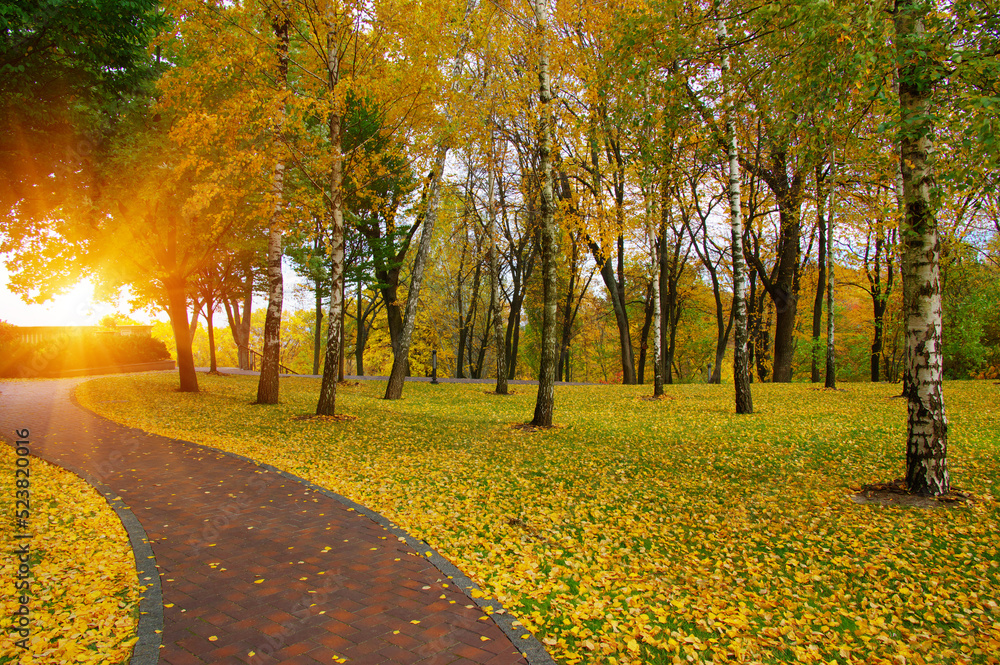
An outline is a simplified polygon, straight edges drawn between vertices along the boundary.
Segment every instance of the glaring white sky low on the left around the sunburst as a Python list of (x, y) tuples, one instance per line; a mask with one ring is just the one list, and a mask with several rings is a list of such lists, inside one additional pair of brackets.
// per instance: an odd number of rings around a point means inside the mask
[[(308, 298), (296, 298), (293, 293), (294, 285), (302, 282), (302, 279), (287, 264), (283, 266), (283, 272), (285, 278), (283, 310), (309, 307)], [(263, 298), (254, 297), (254, 309), (266, 306), (267, 303)], [(0, 257), (0, 321), (15, 326), (95, 326), (102, 317), (116, 313), (129, 316), (140, 323), (168, 320), (164, 312), (151, 316), (149, 312), (130, 311), (126, 295), (122, 295), (117, 304), (95, 302), (94, 284), (89, 279), (45, 304), (25, 303), (20, 296), (11, 293), (10, 273)]]

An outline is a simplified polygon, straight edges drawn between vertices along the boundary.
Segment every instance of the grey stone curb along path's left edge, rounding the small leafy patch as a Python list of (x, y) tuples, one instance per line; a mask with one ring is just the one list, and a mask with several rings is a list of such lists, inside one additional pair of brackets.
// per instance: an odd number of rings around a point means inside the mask
[[(6, 437), (3, 437), (6, 441)], [(37, 455), (32, 455), (38, 457)], [(160, 573), (156, 569), (156, 558), (149, 544), (146, 530), (142, 528), (139, 518), (125, 505), (121, 497), (110, 487), (70, 464), (56, 463), (44, 457), (38, 459), (58, 466), (82, 478), (87, 484), (97, 490), (108, 502), (122, 526), (128, 533), (129, 545), (132, 547), (132, 557), (135, 559), (135, 572), (139, 585), (146, 585), (146, 590), (139, 597), (139, 621), (135, 632), (139, 638), (132, 647), (129, 665), (156, 665), (160, 660), (161, 634), (163, 633), (163, 592), (160, 587)]]

